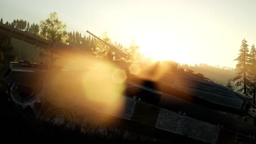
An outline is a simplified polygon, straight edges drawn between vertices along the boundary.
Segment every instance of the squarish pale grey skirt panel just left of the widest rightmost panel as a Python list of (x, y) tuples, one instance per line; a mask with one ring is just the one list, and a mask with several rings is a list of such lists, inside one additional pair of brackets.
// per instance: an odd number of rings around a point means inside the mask
[(177, 133), (179, 122), (182, 116), (176, 112), (161, 109), (155, 128)]

